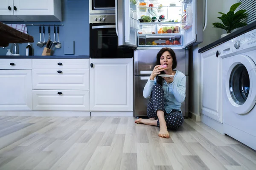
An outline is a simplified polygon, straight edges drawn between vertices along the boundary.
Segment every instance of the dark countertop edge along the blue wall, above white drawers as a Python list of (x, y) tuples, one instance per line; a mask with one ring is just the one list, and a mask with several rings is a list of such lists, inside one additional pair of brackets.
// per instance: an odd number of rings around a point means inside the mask
[(85, 59), (90, 56), (0, 56), (0, 59)]

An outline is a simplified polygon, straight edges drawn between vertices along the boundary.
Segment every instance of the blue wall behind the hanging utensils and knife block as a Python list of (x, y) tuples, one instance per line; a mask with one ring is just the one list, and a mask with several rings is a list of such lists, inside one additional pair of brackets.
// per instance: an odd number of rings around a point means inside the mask
[[(3, 22), (24, 23), (24, 22)], [(88, 0), (62, 0), (62, 22), (26, 22), (25, 24), (64, 24), (60, 26), (59, 40), (61, 48), (53, 48), (53, 55), (64, 55), (64, 41), (74, 41), (74, 55), (89, 55), (89, 1)], [(48, 26), (45, 26), (45, 39), (48, 40)], [(27, 26), (28, 34), (34, 37), (32, 43), (33, 55), (41, 55), (44, 48), (36, 45), (39, 41), (39, 26)], [(57, 29), (56, 29), (57, 30)], [(43, 31), (43, 28), (42, 28)], [(51, 26), (51, 40), (54, 40), (53, 26)], [(56, 35), (57, 38), (57, 35)], [(43, 40), (43, 35), (42, 35)], [(17, 44), (18, 54), (26, 55), (27, 43)], [(45, 47), (45, 45), (44, 45)], [(5, 49), (0, 48), (0, 55), (6, 55), (14, 44), (9, 44)]]

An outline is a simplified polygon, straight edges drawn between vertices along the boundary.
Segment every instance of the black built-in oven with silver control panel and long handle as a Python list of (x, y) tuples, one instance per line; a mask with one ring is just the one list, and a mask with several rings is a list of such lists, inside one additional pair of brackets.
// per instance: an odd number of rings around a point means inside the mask
[(132, 58), (133, 49), (119, 46), (115, 15), (90, 14), (90, 58)]

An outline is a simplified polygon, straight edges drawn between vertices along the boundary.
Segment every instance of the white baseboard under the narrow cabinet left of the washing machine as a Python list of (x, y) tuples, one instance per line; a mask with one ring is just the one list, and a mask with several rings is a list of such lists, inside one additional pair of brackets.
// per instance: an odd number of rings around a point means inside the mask
[(204, 114), (201, 114), (201, 122), (203, 122), (205, 125), (211, 127), (212, 129), (214, 129), (217, 132), (224, 135), (224, 128), (223, 128), (222, 123), (220, 123)]

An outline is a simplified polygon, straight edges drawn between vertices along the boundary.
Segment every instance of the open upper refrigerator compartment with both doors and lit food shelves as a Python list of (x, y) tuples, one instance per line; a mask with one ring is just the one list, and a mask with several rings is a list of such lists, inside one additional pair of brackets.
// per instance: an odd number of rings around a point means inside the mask
[(204, 0), (116, 0), (119, 45), (188, 48), (203, 41)]

